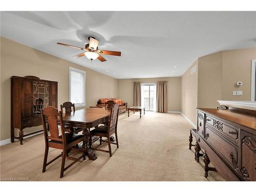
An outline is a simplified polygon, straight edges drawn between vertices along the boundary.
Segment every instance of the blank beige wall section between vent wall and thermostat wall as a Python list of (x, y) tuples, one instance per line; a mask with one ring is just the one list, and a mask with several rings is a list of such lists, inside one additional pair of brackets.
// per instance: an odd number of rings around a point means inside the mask
[(221, 100), (222, 51), (198, 58), (198, 108), (217, 108)]

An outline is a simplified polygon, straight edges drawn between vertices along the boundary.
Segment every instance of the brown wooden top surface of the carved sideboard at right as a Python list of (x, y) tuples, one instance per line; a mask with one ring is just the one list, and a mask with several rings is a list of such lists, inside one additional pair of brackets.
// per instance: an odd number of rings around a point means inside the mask
[(201, 110), (203, 112), (215, 115), (222, 119), (249, 127), (250, 129), (256, 131), (256, 116), (254, 115), (238, 113), (232, 110), (207, 109), (207, 108), (198, 108), (198, 110)]

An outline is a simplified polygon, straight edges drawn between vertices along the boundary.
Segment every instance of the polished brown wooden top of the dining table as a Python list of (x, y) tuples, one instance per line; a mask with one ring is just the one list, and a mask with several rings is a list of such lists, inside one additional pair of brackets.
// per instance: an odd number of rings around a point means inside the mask
[(77, 110), (71, 113), (63, 114), (63, 121), (73, 121), (79, 123), (91, 123), (110, 115), (110, 110), (105, 108), (89, 108)]

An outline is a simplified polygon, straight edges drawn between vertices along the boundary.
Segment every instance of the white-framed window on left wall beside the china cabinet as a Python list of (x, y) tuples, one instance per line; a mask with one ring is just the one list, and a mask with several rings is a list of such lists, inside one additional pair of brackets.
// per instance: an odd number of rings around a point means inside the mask
[(86, 105), (86, 72), (69, 68), (69, 99), (75, 106)]

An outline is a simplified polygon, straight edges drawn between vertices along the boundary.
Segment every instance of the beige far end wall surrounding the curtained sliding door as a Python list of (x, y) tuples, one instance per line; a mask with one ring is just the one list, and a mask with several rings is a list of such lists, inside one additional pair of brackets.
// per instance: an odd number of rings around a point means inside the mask
[(167, 80), (167, 104), (168, 111), (180, 111), (181, 99), (181, 77), (165, 78), (141, 78), (141, 79), (118, 79), (118, 98), (133, 106), (133, 85), (134, 81), (156, 82)]

